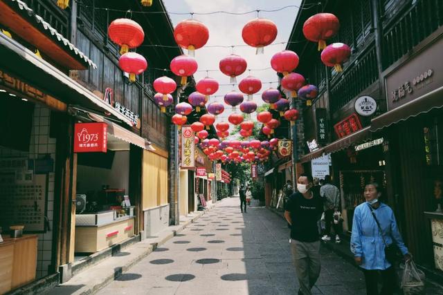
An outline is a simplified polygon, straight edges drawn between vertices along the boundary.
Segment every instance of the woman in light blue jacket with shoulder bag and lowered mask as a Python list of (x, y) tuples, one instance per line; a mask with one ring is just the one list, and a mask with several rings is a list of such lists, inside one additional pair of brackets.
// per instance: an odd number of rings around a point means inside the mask
[[(394, 242), (399, 247), (401, 254), (404, 255), (405, 260), (409, 260), (411, 256), (399, 234), (394, 212), (388, 205), (378, 200), (381, 196), (379, 184), (375, 182), (366, 184), (363, 196), (366, 202), (359, 204), (354, 211), (351, 251), (356, 264), (360, 265), (365, 274), (367, 294), (379, 294), (379, 274), (383, 283), (380, 294), (394, 294), (397, 276), (394, 265), (386, 260), (385, 242), (387, 245)], [(379, 221), (381, 233), (374, 216), (372, 216), (371, 209)]]

